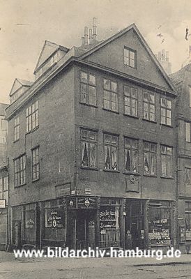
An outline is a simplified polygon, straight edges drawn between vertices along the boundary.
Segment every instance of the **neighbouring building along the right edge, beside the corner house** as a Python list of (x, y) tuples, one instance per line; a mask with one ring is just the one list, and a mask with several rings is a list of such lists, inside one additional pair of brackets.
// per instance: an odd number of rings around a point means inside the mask
[(178, 126), (178, 241), (185, 252), (191, 246), (191, 63), (169, 77), (177, 91)]

